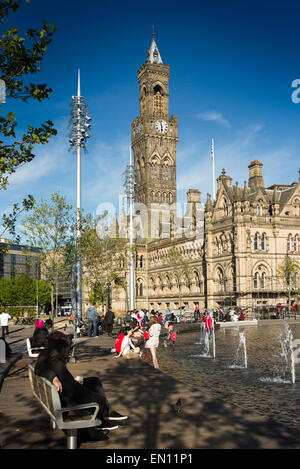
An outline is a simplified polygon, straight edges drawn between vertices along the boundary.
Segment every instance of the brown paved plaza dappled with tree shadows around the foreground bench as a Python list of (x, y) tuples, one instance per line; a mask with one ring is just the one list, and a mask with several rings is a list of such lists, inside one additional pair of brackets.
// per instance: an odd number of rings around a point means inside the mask
[[(1, 449), (64, 449), (64, 433), (50, 428), (30, 389), (27, 367), (32, 359), (25, 352), (25, 338), (33, 326), (11, 330), (11, 347), (24, 353), (1, 389)], [(128, 414), (129, 421), (103, 441), (82, 441), (80, 449), (299, 449), (299, 434), (293, 429), (215, 399), (201, 386), (180, 383), (142, 359), (115, 359), (113, 345), (107, 336), (79, 339), (76, 361), (68, 368), (74, 376), (101, 378), (112, 407)], [(179, 397), (184, 401), (181, 414), (171, 408)]]

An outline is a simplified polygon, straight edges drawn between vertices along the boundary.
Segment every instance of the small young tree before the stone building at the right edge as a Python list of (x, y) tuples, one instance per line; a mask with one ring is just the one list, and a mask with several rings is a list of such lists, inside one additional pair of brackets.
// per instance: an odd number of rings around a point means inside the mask
[(288, 309), (291, 309), (291, 298), (299, 293), (300, 265), (287, 254), (284, 261), (278, 266), (277, 275), (287, 293)]

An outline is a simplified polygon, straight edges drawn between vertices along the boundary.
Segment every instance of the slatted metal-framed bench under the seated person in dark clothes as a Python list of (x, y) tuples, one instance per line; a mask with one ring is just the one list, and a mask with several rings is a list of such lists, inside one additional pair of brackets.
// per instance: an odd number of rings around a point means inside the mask
[[(102, 423), (97, 418), (99, 404), (90, 402), (88, 404), (62, 407), (59, 393), (54, 384), (36, 375), (32, 364), (28, 366), (28, 370), (32, 392), (49, 414), (52, 428), (57, 427), (66, 430), (67, 448), (77, 449), (77, 430), (96, 427)], [(94, 411), (91, 413), (89, 409), (94, 409)]]

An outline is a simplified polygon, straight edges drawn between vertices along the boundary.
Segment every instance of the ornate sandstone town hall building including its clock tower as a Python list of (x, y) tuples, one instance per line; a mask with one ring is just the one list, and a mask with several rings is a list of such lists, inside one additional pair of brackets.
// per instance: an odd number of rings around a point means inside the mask
[[(208, 194), (202, 207), (200, 191), (190, 189), (187, 212), (178, 217), (178, 120), (169, 117), (169, 77), (170, 67), (162, 63), (153, 38), (138, 71), (140, 115), (131, 126), (135, 221), (142, 226), (136, 239), (136, 307), (238, 306), (251, 313), (285, 302), (278, 266), (286, 255), (300, 264), (300, 181), (264, 187), (263, 164), (254, 160), (242, 186), (233, 185), (222, 171), (214, 203)], [(120, 227), (126, 232), (124, 223), (128, 217), (123, 212)], [(189, 272), (170, 261), (174, 248)], [(128, 270), (121, 275), (129, 281)], [(112, 308), (128, 309), (126, 288), (113, 290)]]

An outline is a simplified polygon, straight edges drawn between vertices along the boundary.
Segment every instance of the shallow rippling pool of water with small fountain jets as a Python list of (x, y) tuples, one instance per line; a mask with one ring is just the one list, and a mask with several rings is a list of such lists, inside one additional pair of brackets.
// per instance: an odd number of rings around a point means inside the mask
[[(300, 339), (300, 324), (289, 323), (293, 339)], [(247, 368), (239, 345), (246, 339)], [(177, 335), (175, 349), (160, 341), (159, 368), (177, 380), (203, 389), (248, 410), (300, 429), (300, 364), (292, 382), (290, 364), (282, 356), (279, 334), (284, 324), (220, 328), (215, 331), (215, 358), (205, 354), (199, 332)]]

